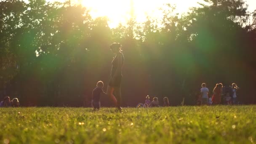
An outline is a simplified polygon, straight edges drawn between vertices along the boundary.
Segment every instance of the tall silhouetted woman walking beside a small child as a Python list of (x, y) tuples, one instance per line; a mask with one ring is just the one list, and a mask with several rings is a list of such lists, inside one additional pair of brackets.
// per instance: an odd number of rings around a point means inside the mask
[[(122, 67), (124, 56), (121, 50), (120, 43), (112, 43), (110, 49), (115, 53), (115, 58), (112, 60), (111, 79), (107, 87), (107, 94), (119, 111), (121, 111), (121, 81), (122, 81)], [(115, 96), (113, 92), (115, 91)], [(117, 98), (117, 99), (116, 99)]]

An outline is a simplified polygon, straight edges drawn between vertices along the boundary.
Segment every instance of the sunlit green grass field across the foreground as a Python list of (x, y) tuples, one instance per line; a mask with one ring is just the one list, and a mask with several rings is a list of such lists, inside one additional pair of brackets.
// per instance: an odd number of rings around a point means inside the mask
[(254, 143), (256, 106), (0, 108), (0, 143)]

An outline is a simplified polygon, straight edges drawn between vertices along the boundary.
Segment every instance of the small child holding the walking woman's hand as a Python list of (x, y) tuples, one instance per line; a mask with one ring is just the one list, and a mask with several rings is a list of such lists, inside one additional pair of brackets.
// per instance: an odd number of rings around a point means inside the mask
[[(93, 109), (99, 109), (101, 107), (101, 93), (104, 93), (103, 87), (104, 83), (102, 81), (99, 81), (96, 85), (97, 87), (94, 88), (93, 94), (92, 94), (92, 100), (91, 100), (91, 105)], [(107, 93), (104, 93), (107, 94)]]

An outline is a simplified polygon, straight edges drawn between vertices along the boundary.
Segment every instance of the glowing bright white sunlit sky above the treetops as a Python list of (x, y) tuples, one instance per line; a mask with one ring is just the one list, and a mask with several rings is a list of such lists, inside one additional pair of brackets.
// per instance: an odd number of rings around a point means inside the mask
[(125, 24), (133, 15), (136, 21), (143, 22), (147, 16), (155, 19), (162, 17), (159, 8), (165, 3), (176, 5), (177, 13), (184, 13), (189, 7), (198, 6), (200, 0), (78, 0), (78, 3), (91, 10), (93, 18), (107, 16), (109, 27)]

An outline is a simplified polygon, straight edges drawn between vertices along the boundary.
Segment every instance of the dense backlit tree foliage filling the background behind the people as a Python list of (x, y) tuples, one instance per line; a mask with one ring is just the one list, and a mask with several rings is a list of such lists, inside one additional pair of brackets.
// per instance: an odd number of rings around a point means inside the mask
[(69, 1), (1, 0), (0, 96), (18, 97), (24, 106), (89, 106), (96, 82), (107, 87), (114, 56), (109, 45), (119, 42), (124, 106), (148, 94), (194, 104), (203, 82), (210, 91), (235, 82), (240, 101), (255, 103), (256, 12), (243, 0), (205, 2), (182, 16), (166, 4), (161, 21), (131, 18), (110, 29), (107, 18), (92, 19)]

